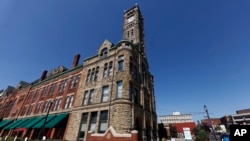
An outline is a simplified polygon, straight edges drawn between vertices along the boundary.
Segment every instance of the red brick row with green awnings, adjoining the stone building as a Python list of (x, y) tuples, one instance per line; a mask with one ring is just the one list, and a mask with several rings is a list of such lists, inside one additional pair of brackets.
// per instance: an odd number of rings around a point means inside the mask
[(75, 56), (70, 70), (59, 66), (49, 74), (44, 71), (40, 79), (30, 84), (21, 81), (8, 96), (1, 97), (1, 137), (63, 138), (82, 72), (79, 57)]

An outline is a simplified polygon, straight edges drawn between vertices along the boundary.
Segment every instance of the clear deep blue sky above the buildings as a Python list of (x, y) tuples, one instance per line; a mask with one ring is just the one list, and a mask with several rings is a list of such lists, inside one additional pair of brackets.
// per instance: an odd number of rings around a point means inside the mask
[(250, 108), (249, 0), (0, 0), (0, 89), (95, 55), (122, 39), (123, 11), (144, 17), (157, 114), (204, 118)]

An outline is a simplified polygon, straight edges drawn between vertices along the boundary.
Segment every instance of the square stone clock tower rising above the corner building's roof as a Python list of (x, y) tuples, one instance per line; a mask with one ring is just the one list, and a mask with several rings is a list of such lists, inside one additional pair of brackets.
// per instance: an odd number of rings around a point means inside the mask
[(131, 9), (125, 10), (123, 19), (123, 39), (137, 45), (139, 51), (145, 56), (143, 17), (138, 5), (136, 4)]

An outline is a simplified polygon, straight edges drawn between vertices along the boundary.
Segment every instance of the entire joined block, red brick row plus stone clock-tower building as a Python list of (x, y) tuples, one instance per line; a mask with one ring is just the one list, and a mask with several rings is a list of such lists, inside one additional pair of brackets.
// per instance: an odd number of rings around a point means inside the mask
[(82, 65), (77, 54), (70, 69), (44, 71), (2, 96), (0, 136), (156, 140), (154, 78), (139, 7), (125, 11), (123, 20), (117, 44), (104, 40)]

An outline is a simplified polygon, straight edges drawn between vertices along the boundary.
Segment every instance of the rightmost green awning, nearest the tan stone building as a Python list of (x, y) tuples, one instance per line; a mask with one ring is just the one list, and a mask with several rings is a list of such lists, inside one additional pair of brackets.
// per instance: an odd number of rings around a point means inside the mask
[(68, 115), (68, 113), (57, 115), (45, 125), (45, 128), (65, 127), (67, 124)]

